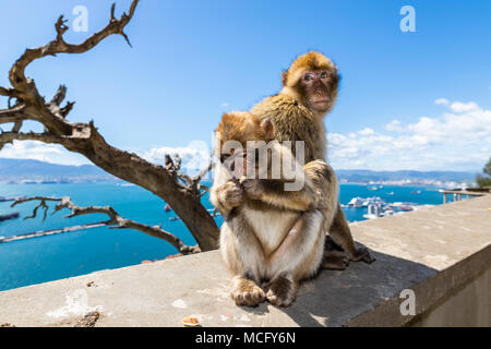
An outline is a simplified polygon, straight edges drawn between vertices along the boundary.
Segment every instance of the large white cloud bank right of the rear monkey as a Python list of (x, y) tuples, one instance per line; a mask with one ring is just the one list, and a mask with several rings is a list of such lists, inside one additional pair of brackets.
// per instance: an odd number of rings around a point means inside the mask
[(479, 170), (491, 156), (491, 110), (436, 101), (447, 109), (436, 118), (394, 120), (382, 132), (327, 134), (328, 160), (338, 169)]

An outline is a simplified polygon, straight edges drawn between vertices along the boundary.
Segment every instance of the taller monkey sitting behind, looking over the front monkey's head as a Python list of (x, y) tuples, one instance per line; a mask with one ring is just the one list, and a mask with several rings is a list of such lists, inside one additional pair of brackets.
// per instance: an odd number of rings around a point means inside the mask
[[(288, 71), (283, 73), (283, 89), (279, 94), (266, 97), (251, 109), (251, 113), (261, 120), (268, 119), (274, 125), (275, 139), (284, 141), (304, 142), (304, 161), (325, 160), (326, 139), (324, 117), (334, 107), (337, 98), (339, 76), (337, 68), (325, 56), (312, 51), (297, 58)], [(292, 151), (295, 152), (295, 146)], [(337, 193), (336, 181), (322, 183), (323, 195)], [(233, 185), (231, 192), (224, 192), (225, 198), (233, 202)], [(227, 203), (225, 203), (227, 204)], [(333, 207), (326, 207), (328, 216)], [(370, 252), (357, 249), (346, 217), (336, 203), (334, 220), (325, 219), (324, 231), (349, 255), (351, 261), (373, 262)], [(345, 258), (334, 249), (331, 239), (326, 240), (324, 266), (343, 269), (347, 266)]]

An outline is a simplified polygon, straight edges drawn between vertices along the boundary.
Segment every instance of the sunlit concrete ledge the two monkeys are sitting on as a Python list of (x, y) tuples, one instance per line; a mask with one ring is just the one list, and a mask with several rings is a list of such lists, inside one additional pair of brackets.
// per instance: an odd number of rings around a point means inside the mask
[[(236, 306), (208, 252), (0, 292), (0, 325), (73, 326), (98, 311), (96, 326), (491, 326), (490, 208), (491, 195), (352, 224), (376, 262), (322, 272), (287, 309)], [(400, 314), (404, 289), (415, 316)]]

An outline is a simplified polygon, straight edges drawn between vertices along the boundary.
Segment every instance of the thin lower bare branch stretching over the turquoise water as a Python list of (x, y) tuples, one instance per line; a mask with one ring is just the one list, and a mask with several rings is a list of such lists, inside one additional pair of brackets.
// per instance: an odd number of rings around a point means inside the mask
[[(172, 244), (179, 253), (182, 254), (192, 254), (200, 252), (199, 246), (189, 246), (184, 244), (178, 237), (175, 234), (161, 229), (159, 226), (147, 226), (140, 222), (136, 222), (131, 219), (127, 219), (121, 217), (115, 208), (111, 206), (87, 206), (87, 207), (80, 207), (75, 205), (70, 197), (46, 197), (46, 196), (34, 196), (34, 197), (23, 197), (16, 200), (11, 207), (14, 207), (19, 204), (23, 204), (26, 202), (33, 202), (33, 201), (39, 201), (39, 204), (34, 208), (33, 214), (28, 217), (25, 217), (24, 219), (31, 219), (35, 218), (37, 216), (37, 212), (39, 208), (44, 209), (44, 219), (46, 219), (49, 206), (47, 202), (59, 202), (58, 205), (56, 205), (55, 210), (52, 215), (58, 213), (59, 210), (63, 208), (68, 208), (71, 210), (71, 214), (65, 216), (65, 218), (73, 218), (89, 214), (105, 214), (109, 217), (108, 220), (100, 221), (97, 224), (103, 224), (105, 226), (108, 226), (110, 229), (134, 229), (142, 231), (151, 237), (158, 238), (161, 240), (165, 240)], [(93, 224), (92, 224), (93, 225)]]

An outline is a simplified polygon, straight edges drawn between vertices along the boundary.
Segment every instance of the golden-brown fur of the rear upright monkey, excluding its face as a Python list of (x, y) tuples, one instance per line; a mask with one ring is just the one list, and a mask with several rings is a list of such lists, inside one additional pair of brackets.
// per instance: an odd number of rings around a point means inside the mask
[[(284, 88), (273, 97), (267, 97), (255, 105), (251, 112), (261, 120), (270, 119), (275, 129), (275, 139), (278, 141), (303, 141), (306, 145), (306, 163), (325, 160), (326, 137), (323, 118), (311, 111), (306, 104), (308, 96), (302, 95), (298, 87), (302, 74), (307, 71), (327, 70), (332, 75), (330, 87), (330, 107), (332, 110), (337, 98), (338, 75), (337, 68), (322, 53), (312, 51), (297, 58), (283, 75)], [(294, 147), (295, 148), (295, 147)], [(332, 196), (337, 192), (337, 182), (318, 183), (324, 188), (322, 195)], [(333, 220), (328, 217), (333, 216)], [(357, 249), (351, 237), (349, 226), (339, 204), (324, 209), (325, 231), (330, 232), (337, 243), (348, 253), (352, 261), (372, 262), (366, 249)]]

